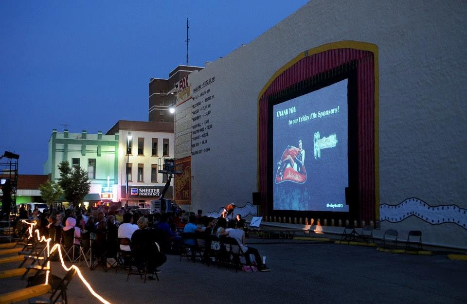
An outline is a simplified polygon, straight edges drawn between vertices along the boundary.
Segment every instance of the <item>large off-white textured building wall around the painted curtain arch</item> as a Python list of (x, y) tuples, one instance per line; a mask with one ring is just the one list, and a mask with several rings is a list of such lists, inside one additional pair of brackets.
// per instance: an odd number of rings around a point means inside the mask
[[(465, 1), (311, 1), (251, 43), (190, 74), (193, 96), (199, 93), (194, 88), (215, 77), (206, 87), (215, 95), (209, 115), (213, 127), (202, 145), (210, 151), (192, 156), (191, 208), (209, 212), (251, 201), (257, 189), (260, 90), (299, 53), (356, 40), (379, 49), (380, 203), (397, 205), (417, 197), (464, 211), (466, 14)], [(383, 221), (386, 228), (422, 230), (426, 242), (467, 247), (462, 222), (432, 225), (411, 217)]]

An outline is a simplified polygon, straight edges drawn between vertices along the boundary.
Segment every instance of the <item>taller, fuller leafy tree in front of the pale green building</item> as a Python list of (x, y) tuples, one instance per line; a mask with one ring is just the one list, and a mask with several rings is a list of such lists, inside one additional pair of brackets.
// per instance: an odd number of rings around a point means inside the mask
[(63, 189), (65, 199), (76, 207), (89, 193), (88, 172), (84, 171), (83, 168), (70, 167), (68, 161), (60, 162), (58, 170), (60, 171), (58, 184)]

